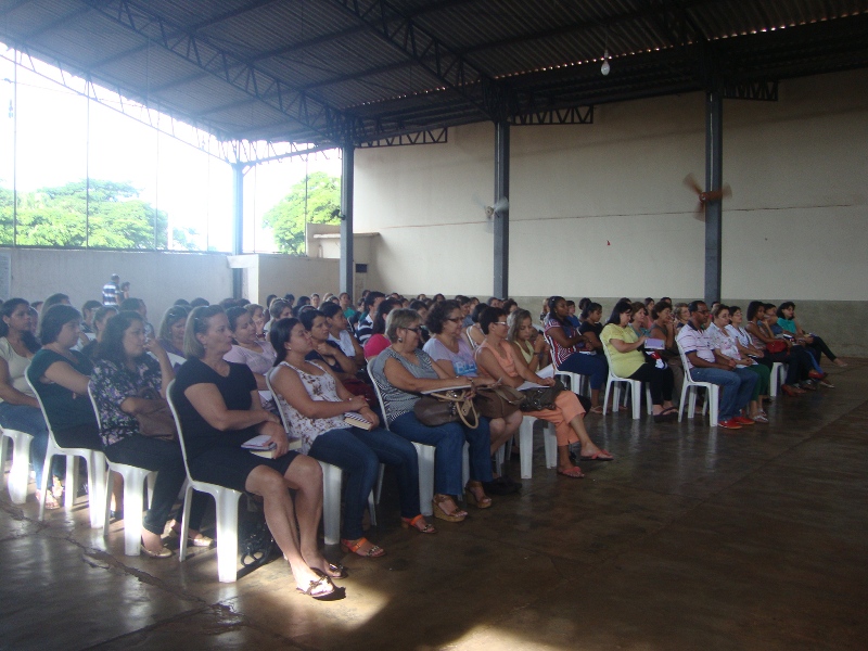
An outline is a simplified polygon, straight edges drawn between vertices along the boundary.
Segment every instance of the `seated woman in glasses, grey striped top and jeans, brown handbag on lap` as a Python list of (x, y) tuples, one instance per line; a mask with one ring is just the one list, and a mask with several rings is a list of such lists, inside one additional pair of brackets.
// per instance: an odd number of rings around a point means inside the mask
[(485, 509), (492, 499), (485, 495), (483, 482), (492, 481), (490, 435), (486, 419), (480, 418), (475, 430), (460, 422), (432, 427), (423, 425), (413, 413), (421, 392), (451, 386), (473, 388), (473, 378), (455, 378), (434, 363), (427, 353), (418, 348), (419, 315), (411, 309), (394, 309), (388, 315), (386, 335), (392, 345), (369, 365), (374, 382), (380, 386), (390, 429), (416, 443), (436, 448), (434, 464), (434, 518), (461, 522), (468, 516), (456, 505), (454, 496), (461, 487), (461, 467), (464, 441), (470, 444), (470, 482), (468, 501)]

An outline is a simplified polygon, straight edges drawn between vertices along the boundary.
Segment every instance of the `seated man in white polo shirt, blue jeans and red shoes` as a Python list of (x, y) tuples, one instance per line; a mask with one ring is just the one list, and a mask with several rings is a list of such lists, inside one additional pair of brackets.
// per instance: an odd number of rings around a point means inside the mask
[(743, 425), (754, 424), (753, 420), (741, 416), (741, 410), (750, 403), (758, 375), (737, 367), (735, 360), (714, 349), (711, 337), (703, 330), (709, 321), (709, 307), (704, 302), (693, 301), (688, 310), (690, 319), (676, 340), (685, 352), (693, 380), (720, 385), (717, 424), (727, 430), (741, 430)]

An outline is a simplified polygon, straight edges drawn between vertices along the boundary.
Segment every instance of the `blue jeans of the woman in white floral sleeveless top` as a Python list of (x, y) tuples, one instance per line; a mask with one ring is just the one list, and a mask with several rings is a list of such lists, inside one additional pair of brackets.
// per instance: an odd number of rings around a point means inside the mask
[(398, 481), (400, 514), (419, 515), (419, 459), (411, 443), (382, 427), (331, 430), (314, 439), (308, 456), (336, 465), (346, 473), (344, 486), (344, 538), (365, 534), (361, 516), (368, 494), (376, 482), (380, 463), (392, 465)]

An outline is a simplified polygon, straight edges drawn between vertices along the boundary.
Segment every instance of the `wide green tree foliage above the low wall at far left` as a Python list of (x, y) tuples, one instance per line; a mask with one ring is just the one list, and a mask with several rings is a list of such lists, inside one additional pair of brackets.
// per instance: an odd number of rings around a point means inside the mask
[[(0, 188), (0, 243), (12, 244), (13, 194)], [(89, 215), (89, 219), (88, 219)], [(154, 229), (156, 220), (156, 229)], [(90, 179), (17, 196), (17, 243), (31, 246), (165, 248), (168, 215), (139, 199), (130, 183)], [(90, 238), (87, 229), (90, 228)], [(156, 233), (154, 232), (156, 230)], [(195, 250), (195, 233), (173, 229), (176, 247)], [(156, 238), (156, 241), (155, 241)]]

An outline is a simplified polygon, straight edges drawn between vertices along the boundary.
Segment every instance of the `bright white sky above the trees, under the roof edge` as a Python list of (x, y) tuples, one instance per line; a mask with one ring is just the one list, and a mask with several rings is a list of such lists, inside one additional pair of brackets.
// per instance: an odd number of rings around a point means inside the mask
[[(193, 229), (197, 235), (192, 239), (200, 248), (231, 251), (229, 164), (107, 107), (104, 104), (119, 105), (116, 95), (110, 100), (108, 91), (98, 91), (102, 102), (97, 102), (47, 79), (46, 75), (60, 77), (48, 64), (33, 62), (40, 75), (28, 69), (31, 62), (26, 59), (16, 71), (14, 56), (13, 50), (0, 43), (0, 186), (11, 189), (13, 176), (20, 192), (88, 176), (130, 182), (141, 199), (168, 214), (171, 227)], [(85, 88), (77, 78), (67, 77), (67, 82)], [(171, 123), (167, 116), (158, 118), (162, 125)], [(196, 139), (192, 128), (177, 127), (189, 140)], [(245, 251), (275, 251), (271, 233), (261, 227), (263, 215), (305, 174), (321, 170), (341, 176), (337, 151), (307, 158), (270, 162), (246, 173)]]

